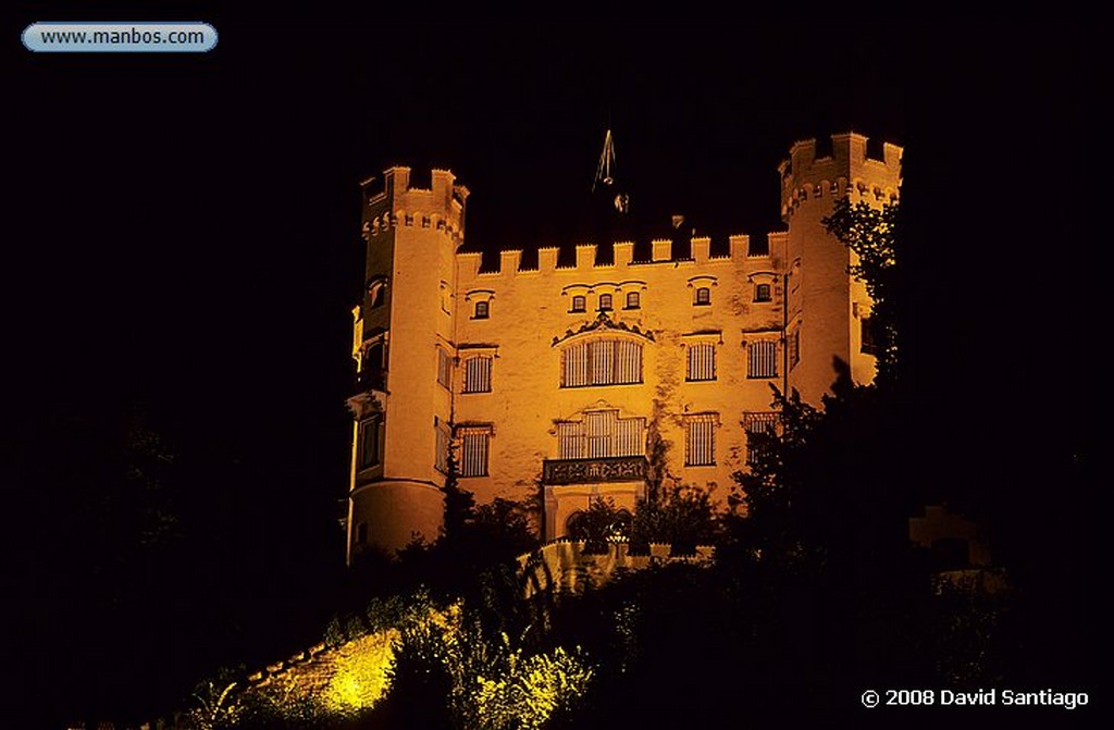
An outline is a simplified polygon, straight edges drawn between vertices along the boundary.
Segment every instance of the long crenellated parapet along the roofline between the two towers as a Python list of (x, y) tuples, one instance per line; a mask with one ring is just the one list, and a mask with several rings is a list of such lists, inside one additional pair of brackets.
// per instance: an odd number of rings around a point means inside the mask
[[(770, 241), (773, 242), (781, 233), (771, 233)], [(772, 245), (772, 244), (771, 244)], [(691, 266), (702, 264), (726, 264), (731, 262), (742, 263), (753, 259), (769, 257), (770, 253), (763, 250), (752, 250), (749, 235), (739, 234), (730, 236), (726, 253), (712, 253), (712, 240), (709, 236), (697, 236), (692, 239), (690, 255), (686, 259), (674, 259), (673, 241), (670, 239), (655, 239), (651, 241), (651, 259), (638, 261), (634, 257), (635, 244), (633, 241), (617, 241), (613, 244), (613, 256), (610, 261), (600, 261), (599, 249), (594, 243), (579, 243), (575, 247), (573, 263), (560, 261), (560, 249), (546, 246), (538, 249), (538, 263), (535, 267), (522, 267), (522, 250), (508, 249), (499, 252), (499, 267), (497, 270), (481, 270), (482, 254), (478, 251), (457, 252), (458, 269), (462, 276), (509, 276), (516, 274), (538, 274), (549, 272), (561, 273), (589, 273), (618, 269), (635, 269), (641, 266)], [(772, 249), (771, 249), (772, 250)]]

